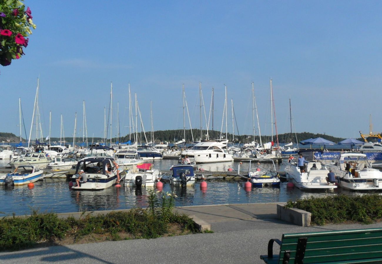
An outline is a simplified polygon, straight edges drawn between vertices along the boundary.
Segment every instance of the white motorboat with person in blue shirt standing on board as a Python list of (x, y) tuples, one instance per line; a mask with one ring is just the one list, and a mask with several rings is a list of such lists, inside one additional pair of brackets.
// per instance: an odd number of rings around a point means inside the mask
[(309, 161), (305, 172), (300, 171), (296, 163), (288, 163), (285, 167), (286, 179), (290, 180), (300, 189), (332, 189), (337, 185), (328, 184), (326, 177), (329, 173), (327, 167), (319, 162)]

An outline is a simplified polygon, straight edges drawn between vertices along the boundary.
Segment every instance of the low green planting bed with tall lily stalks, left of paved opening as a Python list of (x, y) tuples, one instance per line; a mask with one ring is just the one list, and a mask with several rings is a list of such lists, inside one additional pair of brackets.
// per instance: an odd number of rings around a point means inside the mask
[(194, 221), (173, 211), (175, 196), (149, 193), (149, 208), (114, 211), (105, 215), (87, 214), (80, 219), (60, 219), (54, 213), (33, 211), (28, 217), (0, 219), (0, 250), (19, 250), (42, 243), (86, 243), (129, 240), (198, 233)]

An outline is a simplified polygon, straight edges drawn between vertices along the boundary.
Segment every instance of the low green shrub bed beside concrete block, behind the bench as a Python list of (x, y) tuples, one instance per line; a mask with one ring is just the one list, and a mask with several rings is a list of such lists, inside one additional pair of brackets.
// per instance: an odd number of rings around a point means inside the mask
[(355, 197), (346, 195), (311, 197), (295, 202), (288, 201), (285, 208), (298, 208), (311, 212), (311, 222), (317, 225), (347, 221), (371, 224), (382, 218), (382, 196), (367, 194)]

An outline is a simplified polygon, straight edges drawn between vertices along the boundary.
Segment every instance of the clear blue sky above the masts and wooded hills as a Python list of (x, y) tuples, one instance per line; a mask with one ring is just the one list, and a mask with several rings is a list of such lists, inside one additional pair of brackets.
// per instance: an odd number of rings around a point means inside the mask
[[(380, 1), (42, 1), (26, 0), (37, 29), (20, 60), (0, 67), (0, 132), (18, 132), (21, 97), (29, 134), (37, 77), (44, 136), (82, 136), (85, 100), (89, 137), (103, 137), (113, 82), (121, 134), (128, 132), (128, 83), (146, 130), (183, 128), (182, 84), (193, 127), (199, 127), (199, 81), (206, 111), (215, 88), (214, 129), (220, 129), (224, 84), (240, 134), (252, 134), (254, 82), (261, 134), (270, 135), (269, 79), (278, 132), (359, 137), (382, 130)], [(208, 114), (208, 113), (207, 113)], [(186, 124), (188, 121), (186, 121)], [(115, 125), (115, 126), (114, 126)], [(187, 125), (189, 127), (189, 125)], [(204, 126), (205, 128), (205, 126)], [(237, 133), (237, 132), (235, 132)]]

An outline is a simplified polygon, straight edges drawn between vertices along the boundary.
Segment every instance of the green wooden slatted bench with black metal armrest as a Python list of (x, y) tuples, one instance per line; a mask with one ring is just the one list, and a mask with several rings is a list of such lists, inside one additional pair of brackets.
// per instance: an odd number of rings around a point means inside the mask
[[(274, 242), (280, 254), (273, 254)], [(382, 228), (283, 234), (271, 239), (265, 263), (382, 263)]]

